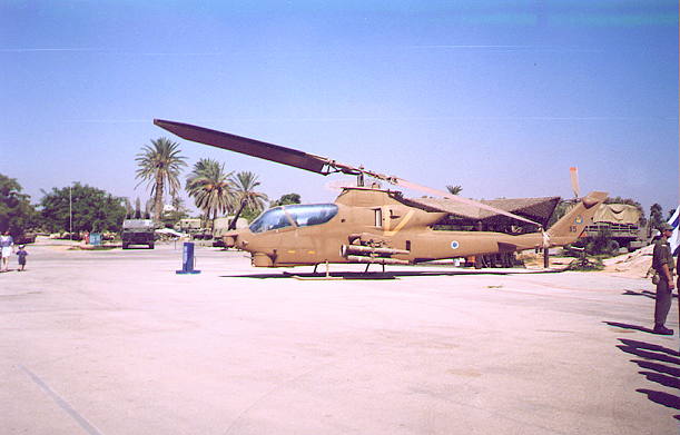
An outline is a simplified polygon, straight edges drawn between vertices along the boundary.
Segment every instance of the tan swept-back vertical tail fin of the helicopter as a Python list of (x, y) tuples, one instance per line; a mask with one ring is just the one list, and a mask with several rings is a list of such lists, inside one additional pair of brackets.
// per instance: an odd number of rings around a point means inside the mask
[(564, 217), (555, 223), (548, 230), (551, 246), (563, 246), (576, 241), (585, 230), (585, 227), (593, 223), (593, 216), (598, 206), (607, 199), (604, 191), (591, 191), (569, 210)]

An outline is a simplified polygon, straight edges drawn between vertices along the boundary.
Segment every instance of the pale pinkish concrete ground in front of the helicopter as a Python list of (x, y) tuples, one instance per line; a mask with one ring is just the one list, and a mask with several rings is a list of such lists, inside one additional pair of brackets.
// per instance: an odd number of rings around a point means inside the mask
[(678, 335), (650, 333), (648, 280), (28, 250), (0, 274), (2, 434), (680, 432)]

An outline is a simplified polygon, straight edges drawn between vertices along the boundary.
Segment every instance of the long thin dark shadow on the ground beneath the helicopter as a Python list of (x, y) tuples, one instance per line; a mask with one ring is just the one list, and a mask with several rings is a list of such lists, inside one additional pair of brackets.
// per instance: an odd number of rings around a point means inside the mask
[(457, 276), (457, 275), (514, 275), (511, 271), (455, 271), (455, 270), (404, 270), (404, 271), (333, 271), (328, 276), (326, 273), (299, 273), (293, 274), (289, 271), (277, 273), (277, 274), (243, 274), (243, 275), (221, 275), (220, 278), (255, 278), (255, 279), (270, 279), (270, 278), (298, 278), (298, 279), (398, 279), (401, 277), (412, 276)]

